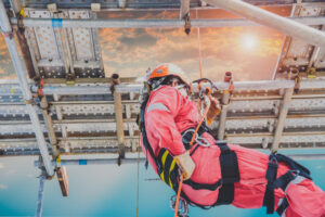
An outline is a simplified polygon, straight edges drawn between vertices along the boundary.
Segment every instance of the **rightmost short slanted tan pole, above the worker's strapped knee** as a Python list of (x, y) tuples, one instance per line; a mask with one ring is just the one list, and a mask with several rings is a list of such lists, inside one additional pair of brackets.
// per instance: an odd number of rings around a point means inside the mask
[(289, 106), (291, 103), (292, 94), (294, 94), (294, 88), (285, 89), (284, 99), (281, 103), (280, 114), (278, 114), (278, 118), (277, 118), (277, 125), (276, 125), (276, 129), (274, 132), (274, 139), (273, 139), (273, 143), (272, 143), (272, 153), (277, 152), (278, 143), (280, 143), (280, 140), (282, 137), (282, 132), (284, 129), (288, 110), (289, 110)]

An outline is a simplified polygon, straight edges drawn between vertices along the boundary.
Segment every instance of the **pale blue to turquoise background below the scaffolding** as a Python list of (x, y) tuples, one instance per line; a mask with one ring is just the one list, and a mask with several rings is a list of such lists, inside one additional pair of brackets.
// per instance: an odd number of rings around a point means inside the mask
[[(288, 151), (292, 152), (292, 151)], [(320, 152), (324, 152), (321, 150)], [(297, 151), (295, 151), (297, 153)], [(37, 206), (39, 169), (37, 157), (0, 158), (0, 216), (34, 216)], [(325, 189), (325, 161), (300, 161), (312, 171), (316, 184)], [(56, 178), (46, 181), (43, 216), (136, 216), (136, 164), (68, 166), (69, 195), (63, 197)], [(139, 216), (173, 216), (173, 195), (150, 168), (140, 164)], [(209, 210), (190, 207), (190, 216), (266, 216), (265, 209), (219, 206)], [(277, 215), (269, 215), (277, 216)]]

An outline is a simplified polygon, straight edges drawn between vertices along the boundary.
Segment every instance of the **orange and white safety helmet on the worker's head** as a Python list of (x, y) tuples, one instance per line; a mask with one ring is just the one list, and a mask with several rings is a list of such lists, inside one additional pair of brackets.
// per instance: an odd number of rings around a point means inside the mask
[(170, 75), (180, 78), (191, 89), (188, 77), (185, 75), (182, 68), (172, 63), (164, 63), (158, 65), (147, 75), (146, 80), (150, 81), (153, 78), (162, 78)]

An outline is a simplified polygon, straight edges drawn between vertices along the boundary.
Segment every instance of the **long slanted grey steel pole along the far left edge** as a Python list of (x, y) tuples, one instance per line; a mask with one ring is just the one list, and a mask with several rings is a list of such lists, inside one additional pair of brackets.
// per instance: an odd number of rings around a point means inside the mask
[(42, 159), (44, 162), (46, 170), (49, 176), (53, 176), (54, 170), (51, 165), (51, 157), (48, 151), (47, 142), (44, 140), (43, 132), (41, 130), (41, 126), (39, 123), (39, 118), (37, 116), (36, 110), (37, 106), (32, 103), (32, 95), (31, 91), (29, 89), (27, 77), (26, 77), (26, 69), (24, 67), (23, 61), (21, 60), (17, 44), (12, 37), (12, 28), (9, 23), (9, 18), (6, 16), (6, 11), (4, 9), (2, 0), (0, 0), (0, 25), (1, 29), (4, 34), (5, 42), (8, 46), (8, 49), (10, 51), (10, 55), (14, 65), (14, 68), (16, 71), (21, 88), (23, 90), (23, 95), (26, 102), (26, 108), (29, 113), (29, 117), (31, 120), (31, 124), (34, 126), (34, 131), (38, 141), (38, 145), (42, 155)]

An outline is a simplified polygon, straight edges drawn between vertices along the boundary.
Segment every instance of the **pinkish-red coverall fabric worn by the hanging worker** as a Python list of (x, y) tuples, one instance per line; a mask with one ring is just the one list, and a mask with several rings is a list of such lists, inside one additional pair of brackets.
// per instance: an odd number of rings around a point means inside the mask
[[(185, 152), (181, 132), (195, 127), (199, 120), (198, 107), (180, 92), (169, 86), (161, 86), (151, 93), (145, 108), (145, 128), (148, 142), (157, 156), (161, 148), (166, 148), (173, 156)], [(198, 183), (214, 183), (221, 178), (219, 155), (220, 150), (214, 145), (214, 139), (208, 132), (203, 137), (210, 146), (199, 146), (192, 155), (196, 167), (191, 179)], [(239, 145), (230, 144), (234, 150), (240, 174), (239, 182), (235, 183), (235, 195), (232, 205), (239, 208), (259, 208), (263, 204), (265, 173), (269, 155)], [(145, 149), (143, 149), (145, 150)], [(145, 152), (146, 154), (146, 152)], [(157, 171), (155, 162), (148, 155), (148, 161)], [(289, 168), (280, 163), (277, 177)], [(187, 184), (182, 186), (185, 194), (195, 203), (211, 205), (218, 199), (218, 192), (194, 190)], [(309, 179), (299, 177), (292, 180), (284, 192), (281, 188), (274, 191), (275, 207), (281, 199), (287, 199), (289, 206), (283, 216), (287, 217), (325, 217), (325, 193)]]

